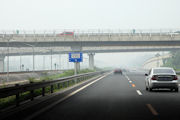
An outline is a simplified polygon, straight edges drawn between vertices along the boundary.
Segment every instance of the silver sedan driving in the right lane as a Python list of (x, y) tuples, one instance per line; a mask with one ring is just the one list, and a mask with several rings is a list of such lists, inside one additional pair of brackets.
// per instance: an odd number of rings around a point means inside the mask
[(145, 76), (145, 85), (148, 91), (156, 88), (169, 88), (171, 91), (179, 91), (178, 77), (173, 68), (152, 68)]

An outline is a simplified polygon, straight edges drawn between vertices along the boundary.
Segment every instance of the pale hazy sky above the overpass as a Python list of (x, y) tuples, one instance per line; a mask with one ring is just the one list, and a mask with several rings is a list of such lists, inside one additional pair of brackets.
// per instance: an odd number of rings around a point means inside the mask
[(180, 28), (180, 0), (0, 0), (0, 29)]

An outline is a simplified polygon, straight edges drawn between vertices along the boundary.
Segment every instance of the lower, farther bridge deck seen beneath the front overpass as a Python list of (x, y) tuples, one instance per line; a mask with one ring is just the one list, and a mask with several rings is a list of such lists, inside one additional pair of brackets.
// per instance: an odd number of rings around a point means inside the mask
[[(51, 53), (52, 50), (52, 53)], [(112, 53), (112, 52), (152, 52), (152, 51), (172, 51), (172, 50), (180, 50), (179, 46), (167, 46), (167, 47), (150, 47), (150, 46), (143, 46), (143, 47), (119, 47), (119, 46), (107, 46), (107, 47), (83, 47), (83, 53)], [(0, 54), (7, 55), (7, 48), (1, 48)], [(50, 54), (67, 54), (72, 52), (70, 47), (37, 47), (34, 48), (35, 55), (50, 55)], [(19, 56), (19, 55), (32, 55), (33, 50), (32, 48), (9, 48), (9, 55), (10, 56)]]

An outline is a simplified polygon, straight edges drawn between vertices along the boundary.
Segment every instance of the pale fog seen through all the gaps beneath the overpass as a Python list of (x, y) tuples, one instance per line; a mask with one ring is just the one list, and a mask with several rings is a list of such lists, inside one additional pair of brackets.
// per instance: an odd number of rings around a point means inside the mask
[[(161, 55), (162, 52), (158, 52)], [(143, 63), (154, 57), (157, 52), (126, 52), (126, 53), (97, 53), (95, 54), (95, 66), (98, 68), (141, 68)], [(20, 60), (21, 59), (21, 60)], [(20, 67), (21, 64), (21, 67)], [(33, 57), (32, 56), (10, 56), (9, 70), (32, 70)], [(35, 56), (35, 70), (50, 70), (51, 56)], [(56, 64), (56, 66), (55, 66)], [(22, 65), (24, 67), (22, 67)], [(5, 71), (7, 68), (7, 57), (5, 58)], [(87, 54), (83, 54), (83, 62), (81, 62), (81, 69), (89, 67), (89, 58)], [(68, 61), (68, 55), (52, 55), (52, 69), (73, 69), (74, 63)]]

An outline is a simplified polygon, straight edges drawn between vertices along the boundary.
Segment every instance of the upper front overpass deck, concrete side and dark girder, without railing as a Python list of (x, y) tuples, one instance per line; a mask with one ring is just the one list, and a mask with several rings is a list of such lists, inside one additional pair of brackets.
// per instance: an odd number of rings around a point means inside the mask
[[(158, 33), (107, 33), (105, 32), (64, 32), (52, 34), (0, 34), (0, 47), (71, 47), (82, 50), (83, 47), (102, 46), (179, 46), (180, 34), (175, 32)], [(29, 46), (29, 44), (31, 46)]]

